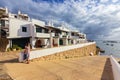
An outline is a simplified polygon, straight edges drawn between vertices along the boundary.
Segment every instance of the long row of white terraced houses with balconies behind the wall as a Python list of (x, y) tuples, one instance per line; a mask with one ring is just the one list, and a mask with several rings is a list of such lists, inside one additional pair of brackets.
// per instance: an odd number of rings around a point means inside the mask
[(27, 14), (12, 14), (7, 8), (0, 8), (0, 37), (9, 40), (8, 47), (24, 45), (30, 42), (32, 48), (71, 45), (87, 41), (86, 34), (71, 31), (64, 25), (54, 27), (44, 21), (31, 19)]

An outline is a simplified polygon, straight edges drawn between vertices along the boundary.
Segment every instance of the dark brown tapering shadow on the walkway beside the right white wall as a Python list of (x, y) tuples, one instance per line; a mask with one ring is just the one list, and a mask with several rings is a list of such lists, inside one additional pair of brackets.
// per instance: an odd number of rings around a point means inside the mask
[(106, 63), (104, 66), (101, 80), (114, 80), (113, 72), (112, 72), (112, 65), (111, 65), (109, 58), (106, 59)]

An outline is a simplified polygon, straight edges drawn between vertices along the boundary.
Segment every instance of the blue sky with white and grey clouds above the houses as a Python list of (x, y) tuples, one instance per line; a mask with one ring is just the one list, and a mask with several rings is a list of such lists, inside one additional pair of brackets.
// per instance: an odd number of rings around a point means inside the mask
[(65, 24), (88, 39), (120, 40), (120, 0), (0, 0), (0, 7)]

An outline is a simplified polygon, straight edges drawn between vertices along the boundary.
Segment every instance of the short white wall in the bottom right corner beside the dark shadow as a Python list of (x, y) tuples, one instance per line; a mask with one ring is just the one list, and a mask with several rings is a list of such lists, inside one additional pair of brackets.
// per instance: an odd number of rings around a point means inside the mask
[(120, 80), (120, 64), (112, 56), (110, 56), (110, 61), (112, 64), (114, 80)]

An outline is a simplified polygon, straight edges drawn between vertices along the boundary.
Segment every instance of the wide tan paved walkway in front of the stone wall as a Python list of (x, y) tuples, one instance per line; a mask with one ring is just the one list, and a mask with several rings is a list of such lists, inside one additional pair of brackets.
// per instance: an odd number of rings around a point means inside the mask
[(103, 56), (30, 64), (6, 61), (4, 67), (15, 80), (114, 80), (110, 60)]

